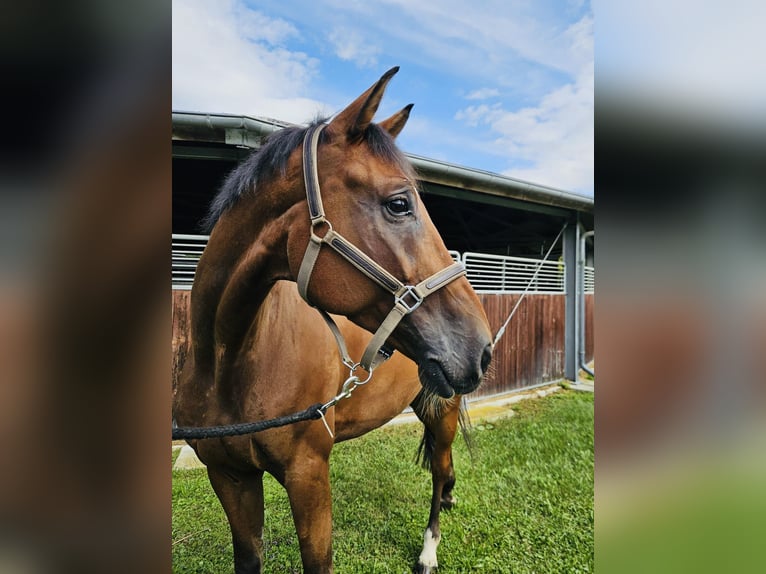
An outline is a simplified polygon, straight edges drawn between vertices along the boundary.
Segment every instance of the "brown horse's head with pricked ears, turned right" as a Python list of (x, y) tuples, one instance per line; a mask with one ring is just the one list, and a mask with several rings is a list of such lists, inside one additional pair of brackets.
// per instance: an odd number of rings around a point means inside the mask
[[(412, 105), (380, 123), (372, 121), (397, 70), (389, 70), (317, 134), (316, 157), (310, 161), (315, 162), (323, 217), (320, 225), (312, 225), (311, 200), (302, 203), (287, 238), (293, 278), (301, 273), (312, 236), (329, 231), (342, 234), (400, 286), (423, 284), (453, 264), (419, 195), (414, 169), (394, 143)], [(305, 177), (309, 187), (312, 174)], [(375, 332), (392, 309), (395, 289), (370, 280), (364, 261), (352, 265), (342, 255), (332, 249), (317, 251), (310, 281), (305, 281), (306, 298)], [(417, 363), (427, 389), (443, 397), (471, 392), (491, 358), (482, 305), (462, 274), (429, 295), (401, 318), (388, 343)]]

